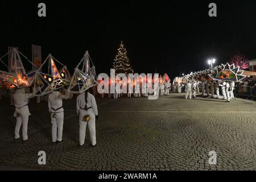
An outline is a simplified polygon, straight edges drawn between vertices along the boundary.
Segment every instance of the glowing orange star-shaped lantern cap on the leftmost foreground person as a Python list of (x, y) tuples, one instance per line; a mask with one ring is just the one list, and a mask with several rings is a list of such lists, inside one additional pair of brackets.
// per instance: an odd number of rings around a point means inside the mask
[[(36, 68), (17, 48), (12, 48), (0, 59), (0, 84), (5, 89), (24, 88), (31, 86), (34, 81), (35, 71), (26, 72), (20, 55)], [(9, 62), (9, 65), (5, 64), (5, 59), (7, 59), (6, 62)]]

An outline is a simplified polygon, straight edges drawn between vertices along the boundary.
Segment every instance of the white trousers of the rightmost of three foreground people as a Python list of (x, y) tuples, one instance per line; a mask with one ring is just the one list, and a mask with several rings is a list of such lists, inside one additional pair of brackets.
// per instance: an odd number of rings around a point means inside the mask
[(88, 125), (89, 133), (90, 133), (90, 142), (92, 145), (96, 145), (96, 124), (95, 117), (91, 116), (92, 119), (89, 122), (79, 121), (79, 144), (82, 146), (85, 140), (86, 134), (86, 126)]

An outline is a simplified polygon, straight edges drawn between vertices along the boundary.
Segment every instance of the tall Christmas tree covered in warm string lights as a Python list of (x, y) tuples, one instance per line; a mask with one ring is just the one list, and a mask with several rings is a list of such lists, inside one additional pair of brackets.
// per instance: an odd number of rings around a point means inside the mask
[(115, 56), (114, 60), (114, 69), (115, 73), (125, 73), (128, 75), (129, 73), (133, 73), (133, 69), (131, 68), (129, 58), (127, 56), (127, 51), (123, 42), (121, 42), (120, 47), (118, 48), (117, 56)]

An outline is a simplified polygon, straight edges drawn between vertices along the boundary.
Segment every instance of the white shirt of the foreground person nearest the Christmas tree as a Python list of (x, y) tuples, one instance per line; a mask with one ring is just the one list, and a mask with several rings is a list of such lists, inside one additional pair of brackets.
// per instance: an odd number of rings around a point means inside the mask
[[(92, 108), (88, 109), (88, 111), (93, 111), (95, 115), (98, 115), (98, 109), (97, 109), (95, 97), (90, 93), (87, 94), (87, 103), (86, 103), (86, 108), (89, 108), (89, 107), (92, 107)], [(81, 93), (76, 99), (77, 114), (79, 115), (80, 111), (84, 112), (85, 111), (84, 109), (85, 109), (85, 93)]]

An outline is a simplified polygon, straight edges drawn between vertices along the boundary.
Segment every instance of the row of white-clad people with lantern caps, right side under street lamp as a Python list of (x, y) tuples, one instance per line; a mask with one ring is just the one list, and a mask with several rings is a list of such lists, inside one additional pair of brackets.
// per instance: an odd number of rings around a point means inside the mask
[[(209, 98), (223, 99), (230, 102), (234, 98), (235, 83), (240, 82), (250, 72), (243, 71), (234, 64), (221, 64), (200, 72), (192, 72), (183, 77), (176, 77), (171, 86), (173, 92), (186, 92), (185, 98), (196, 98), (196, 94)], [(220, 90), (222, 96), (220, 96)]]

